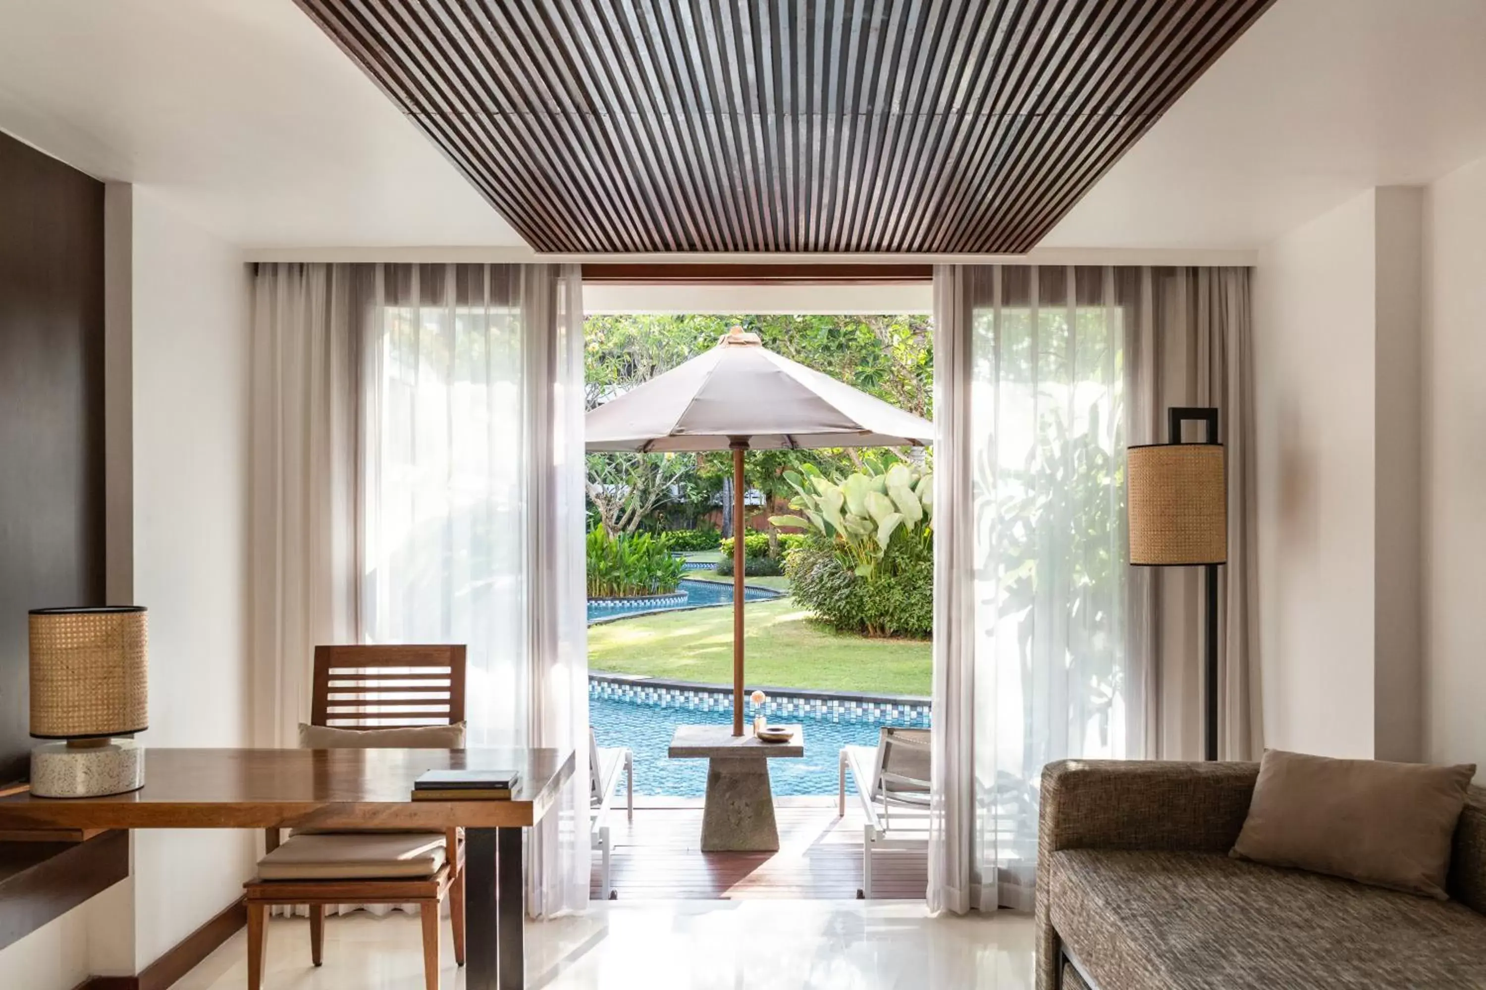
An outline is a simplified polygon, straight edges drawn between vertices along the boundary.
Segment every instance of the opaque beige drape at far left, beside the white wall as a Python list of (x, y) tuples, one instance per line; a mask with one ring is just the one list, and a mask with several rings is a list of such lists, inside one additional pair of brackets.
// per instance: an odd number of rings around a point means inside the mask
[(312, 655), (358, 643), (367, 267), (259, 264), (251, 341), (253, 738), (299, 745)]

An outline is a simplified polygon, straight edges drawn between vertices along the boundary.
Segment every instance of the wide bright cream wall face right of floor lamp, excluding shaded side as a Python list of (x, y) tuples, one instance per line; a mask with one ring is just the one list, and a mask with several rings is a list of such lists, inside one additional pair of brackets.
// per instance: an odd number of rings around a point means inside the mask
[(1265, 246), (1254, 272), (1265, 745), (1373, 755), (1376, 200)]

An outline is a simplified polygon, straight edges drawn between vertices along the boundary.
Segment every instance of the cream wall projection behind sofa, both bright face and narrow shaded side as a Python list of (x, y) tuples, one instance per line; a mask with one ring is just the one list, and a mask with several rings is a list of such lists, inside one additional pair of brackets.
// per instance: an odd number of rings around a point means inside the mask
[(1375, 189), (1259, 254), (1265, 745), (1419, 760), (1421, 211)]

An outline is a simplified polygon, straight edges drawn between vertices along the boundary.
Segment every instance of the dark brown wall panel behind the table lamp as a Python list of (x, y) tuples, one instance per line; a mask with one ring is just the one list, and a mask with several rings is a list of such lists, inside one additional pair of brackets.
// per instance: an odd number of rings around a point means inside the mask
[(0, 784), (31, 748), (27, 612), (104, 604), (103, 199), (0, 134)]

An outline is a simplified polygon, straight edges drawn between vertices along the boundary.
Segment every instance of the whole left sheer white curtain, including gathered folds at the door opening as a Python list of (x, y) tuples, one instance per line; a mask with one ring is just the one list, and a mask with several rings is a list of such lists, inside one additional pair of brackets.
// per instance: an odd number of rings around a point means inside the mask
[(363, 637), (464, 643), (471, 747), (574, 753), (529, 833), (533, 916), (588, 902), (577, 267), (379, 266), (363, 407)]

